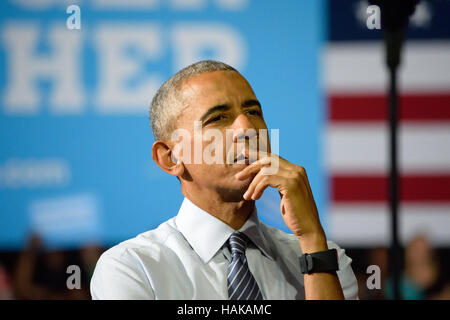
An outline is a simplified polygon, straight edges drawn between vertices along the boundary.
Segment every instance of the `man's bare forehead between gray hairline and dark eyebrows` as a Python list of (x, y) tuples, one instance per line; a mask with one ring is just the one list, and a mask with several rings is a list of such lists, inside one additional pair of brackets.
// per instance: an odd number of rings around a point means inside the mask
[(255, 98), (247, 80), (230, 70), (195, 75), (182, 84), (180, 93), (186, 106), (195, 109)]

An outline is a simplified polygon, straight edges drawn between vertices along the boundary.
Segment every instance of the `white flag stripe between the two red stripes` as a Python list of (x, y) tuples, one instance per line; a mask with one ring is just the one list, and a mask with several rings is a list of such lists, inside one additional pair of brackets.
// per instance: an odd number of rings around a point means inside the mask
[[(385, 173), (388, 130), (385, 124), (339, 123), (325, 134), (328, 170), (342, 174)], [(399, 164), (402, 173), (450, 171), (449, 124), (400, 124)]]

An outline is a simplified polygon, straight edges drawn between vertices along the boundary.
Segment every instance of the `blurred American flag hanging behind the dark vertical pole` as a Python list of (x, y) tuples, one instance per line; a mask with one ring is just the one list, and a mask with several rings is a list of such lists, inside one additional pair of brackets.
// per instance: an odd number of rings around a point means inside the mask
[[(324, 49), (325, 159), (330, 237), (347, 246), (390, 243), (388, 73), (383, 30), (367, 1), (329, 1)], [(399, 235), (450, 244), (450, 1), (421, 1), (399, 73)]]

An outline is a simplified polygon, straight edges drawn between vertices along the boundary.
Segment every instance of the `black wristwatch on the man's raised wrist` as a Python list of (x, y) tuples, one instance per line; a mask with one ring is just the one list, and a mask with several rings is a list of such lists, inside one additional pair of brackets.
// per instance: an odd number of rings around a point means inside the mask
[(337, 250), (305, 253), (300, 257), (300, 270), (303, 274), (338, 271)]

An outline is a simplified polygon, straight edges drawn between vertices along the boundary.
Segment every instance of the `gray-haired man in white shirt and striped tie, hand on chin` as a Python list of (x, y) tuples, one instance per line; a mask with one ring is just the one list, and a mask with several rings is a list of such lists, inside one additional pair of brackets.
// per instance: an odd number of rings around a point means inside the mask
[[(270, 145), (250, 155), (242, 133), (267, 126), (238, 71), (210, 60), (184, 68), (158, 90), (150, 119), (153, 160), (179, 179), (185, 198), (176, 217), (101, 256), (94, 299), (357, 298), (351, 259), (326, 240), (305, 169), (270, 153)], [(177, 130), (187, 133), (183, 148)], [(208, 148), (206, 132), (231, 132), (231, 144), (214, 139), (214, 157), (224, 161), (192, 161), (190, 151)], [(244, 148), (230, 162), (229, 147), (242, 137)], [(255, 201), (267, 187), (278, 189), (292, 234), (258, 220)]]

